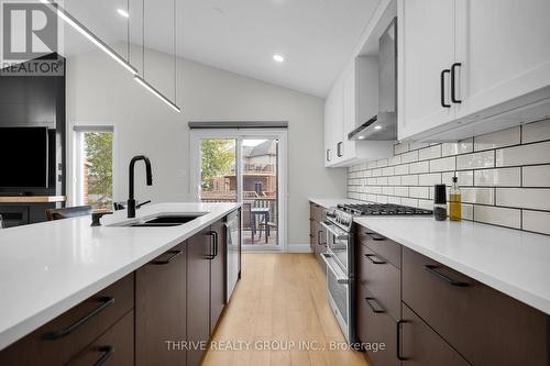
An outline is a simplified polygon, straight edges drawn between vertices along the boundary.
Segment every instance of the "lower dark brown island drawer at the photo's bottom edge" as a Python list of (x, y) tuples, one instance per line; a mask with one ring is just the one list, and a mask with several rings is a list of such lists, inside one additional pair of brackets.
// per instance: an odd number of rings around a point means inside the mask
[(131, 366), (134, 364), (134, 312), (130, 311), (67, 366)]

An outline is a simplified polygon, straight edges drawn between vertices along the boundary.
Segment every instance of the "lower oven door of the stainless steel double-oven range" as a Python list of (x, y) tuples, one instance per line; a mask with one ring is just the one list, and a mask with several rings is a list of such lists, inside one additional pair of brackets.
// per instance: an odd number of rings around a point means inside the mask
[(327, 265), (327, 289), (329, 303), (348, 343), (353, 342), (351, 290), (353, 284), (340, 268), (331, 253), (321, 253)]

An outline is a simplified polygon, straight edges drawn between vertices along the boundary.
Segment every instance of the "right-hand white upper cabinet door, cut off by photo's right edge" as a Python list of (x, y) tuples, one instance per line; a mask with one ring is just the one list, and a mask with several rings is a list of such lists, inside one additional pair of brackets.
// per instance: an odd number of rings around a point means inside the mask
[(458, 117), (550, 86), (549, 0), (457, 0)]

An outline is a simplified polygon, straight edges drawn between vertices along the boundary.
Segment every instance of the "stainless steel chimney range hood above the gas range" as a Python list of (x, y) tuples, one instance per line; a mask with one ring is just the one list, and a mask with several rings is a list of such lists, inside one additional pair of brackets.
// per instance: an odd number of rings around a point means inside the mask
[(380, 38), (378, 113), (348, 134), (349, 140), (397, 140), (397, 19)]

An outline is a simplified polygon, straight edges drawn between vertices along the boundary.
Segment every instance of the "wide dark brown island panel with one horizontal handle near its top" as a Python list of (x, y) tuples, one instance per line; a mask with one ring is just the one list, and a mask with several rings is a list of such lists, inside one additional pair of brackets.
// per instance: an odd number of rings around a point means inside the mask
[(135, 271), (135, 365), (185, 365), (185, 350), (169, 342), (186, 334), (186, 243)]

